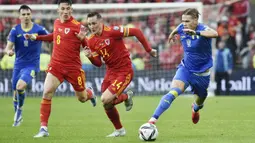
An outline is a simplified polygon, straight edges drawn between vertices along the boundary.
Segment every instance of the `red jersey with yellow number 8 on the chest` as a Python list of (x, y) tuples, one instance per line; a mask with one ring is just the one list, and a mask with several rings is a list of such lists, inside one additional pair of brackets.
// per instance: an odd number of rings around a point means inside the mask
[(76, 37), (81, 28), (80, 22), (71, 17), (61, 23), (54, 22), (53, 53), (50, 65), (61, 65), (65, 68), (81, 68), (80, 46), (82, 42)]

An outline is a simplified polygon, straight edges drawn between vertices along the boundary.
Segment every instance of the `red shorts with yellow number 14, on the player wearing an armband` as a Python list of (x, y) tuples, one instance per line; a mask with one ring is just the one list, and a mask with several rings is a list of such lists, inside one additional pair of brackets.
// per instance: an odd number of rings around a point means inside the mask
[(110, 71), (107, 70), (101, 91), (110, 90), (112, 94), (120, 95), (130, 84), (134, 76), (133, 69), (126, 71)]

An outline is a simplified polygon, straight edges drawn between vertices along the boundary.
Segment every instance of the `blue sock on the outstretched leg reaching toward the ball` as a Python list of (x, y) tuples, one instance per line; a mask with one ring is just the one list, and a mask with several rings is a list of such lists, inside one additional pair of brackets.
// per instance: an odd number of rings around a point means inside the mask
[(167, 93), (161, 98), (159, 105), (156, 108), (152, 117), (158, 119), (159, 116), (170, 107), (174, 99), (181, 93), (182, 91), (179, 88), (172, 88), (169, 93)]

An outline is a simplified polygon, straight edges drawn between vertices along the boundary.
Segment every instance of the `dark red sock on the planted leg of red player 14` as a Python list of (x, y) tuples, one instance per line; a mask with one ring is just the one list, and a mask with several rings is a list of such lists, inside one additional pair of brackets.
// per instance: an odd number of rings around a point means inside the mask
[(108, 118), (111, 120), (112, 124), (114, 125), (115, 129), (121, 129), (122, 125), (120, 123), (120, 116), (116, 107), (111, 109), (105, 110)]

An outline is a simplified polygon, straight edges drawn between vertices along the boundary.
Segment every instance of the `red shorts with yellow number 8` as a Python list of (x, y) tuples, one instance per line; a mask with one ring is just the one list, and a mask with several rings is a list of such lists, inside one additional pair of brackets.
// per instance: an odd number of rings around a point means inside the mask
[(49, 65), (47, 72), (58, 78), (60, 83), (64, 80), (72, 84), (75, 91), (81, 92), (85, 90), (86, 76), (82, 69), (65, 69), (62, 66)]

